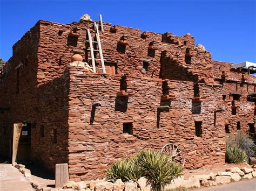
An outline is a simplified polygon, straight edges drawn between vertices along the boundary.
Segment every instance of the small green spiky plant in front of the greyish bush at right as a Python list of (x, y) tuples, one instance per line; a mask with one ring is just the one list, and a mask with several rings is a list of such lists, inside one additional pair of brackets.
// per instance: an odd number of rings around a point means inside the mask
[(246, 160), (247, 154), (237, 145), (227, 145), (225, 157), (226, 157), (226, 162), (240, 163)]

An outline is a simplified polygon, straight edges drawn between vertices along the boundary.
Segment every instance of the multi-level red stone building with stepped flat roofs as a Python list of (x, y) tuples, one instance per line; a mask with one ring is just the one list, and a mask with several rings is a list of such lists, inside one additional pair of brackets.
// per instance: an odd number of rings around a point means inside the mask
[[(68, 162), (70, 179), (84, 180), (102, 176), (118, 158), (167, 143), (181, 148), (186, 168), (223, 164), (226, 133), (255, 135), (255, 76), (212, 60), (190, 34), (103, 23), (105, 74), (84, 67), (91, 66), (87, 29), (96, 40), (90, 19), (39, 20), (13, 46), (0, 77), (6, 159), (38, 161), (51, 171)], [(83, 60), (70, 64), (74, 54)], [(14, 130), (21, 133), (15, 156)]]

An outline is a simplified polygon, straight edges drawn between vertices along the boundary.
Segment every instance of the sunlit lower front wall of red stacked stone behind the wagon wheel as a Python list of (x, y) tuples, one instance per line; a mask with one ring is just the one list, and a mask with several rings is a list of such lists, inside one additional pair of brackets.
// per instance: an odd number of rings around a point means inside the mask
[[(209, 100), (202, 103), (200, 114), (191, 115), (193, 82), (168, 81), (169, 91), (177, 95), (177, 100), (171, 101), (170, 112), (161, 112), (158, 118), (157, 107), (163, 94), (160, 80), (127, 76), (126, 91), (131, 95), (127, 110), (118, 111), (120, 76), (72, 68), (70, 79), (70, 178), (96, 178), (117, 158), (142, 148), (160, 150), (167, 143), (180, 146), (187, 168), (225, 162), (225, 131), (219, 125), (220, 119), (216, 126), (212, 120), (221, 98), (220, 93), (215, 93), (219, 87), (204, 87)], [(96, 108), (95, 120), (90, 124), (93, 103), (101, 106)], [(202, 121), (202, 137), (195, 135), (194, 121)], [(132, 123), (132, 135), (123, 133), (123, 123)]]

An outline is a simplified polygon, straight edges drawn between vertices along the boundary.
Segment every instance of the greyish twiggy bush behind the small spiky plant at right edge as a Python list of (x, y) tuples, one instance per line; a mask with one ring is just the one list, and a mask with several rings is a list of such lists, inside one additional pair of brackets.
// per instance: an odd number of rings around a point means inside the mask
[(227, 145), (239, 146), (249, 157), (255, 156), (256, 146), (253, 139), (245, 133), (238, 131), (237, 135), (227, 138), (226, 143)]

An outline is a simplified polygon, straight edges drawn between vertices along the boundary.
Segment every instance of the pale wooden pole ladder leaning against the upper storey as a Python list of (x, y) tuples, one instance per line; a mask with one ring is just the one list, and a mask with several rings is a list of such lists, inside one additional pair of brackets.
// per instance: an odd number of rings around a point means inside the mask
[[(102, 22), (100, 22), (100, 23), (102, 23)], [(105, 69), (104, 58), (103, 58), (103, 53), (102, 53), (102, 44), (100, 43), (99, 29), (98, 29), (96, 22), (94, 22), (94, 27), (95, 27), (95, 36), (96, 36), (97, 41), (92, 41), (90, 30), (87, 29), (88, 40), (86, 40), (86, 42), (89, 42), (89, 44), (90, 44), (90, 49), (87, 49), (87, 51), (91, 52), (91, 58), (89, 58), (89, 60), (92, 61), (93, 72), (96, 72), (96, 69), (102, 69), (102, 72), (105, 74), (106, 69)], [(103, 31), (103, 26), (101, 26), (101, 29)], [(93, 44), (96, 44), (96, 43), (98, 44), (98, 49), (93, 48)], [(99, 58), (95, 58), (94, 52), (99, 52)], [(96, 65), (95, 65), (96, 60), (100, 60), (100, 63), (102, 65), (101, 68), (96, 68)]]

